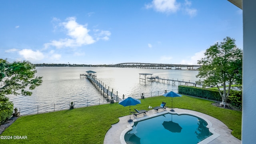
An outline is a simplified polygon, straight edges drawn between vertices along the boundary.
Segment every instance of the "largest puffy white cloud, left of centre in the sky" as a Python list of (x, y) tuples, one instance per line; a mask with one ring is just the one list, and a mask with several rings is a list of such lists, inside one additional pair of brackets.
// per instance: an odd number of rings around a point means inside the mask
[[(58, 21), (57, 18), (54, 18), (54, 21), (56, 20)], [(96, 34), (96, 40), (94, 40), (89, 34), (90, 30), (87, 28), (87, 24), (78, 24), (75, 17), (67, 18), (66, 22), (59, 23), (58, 26), (61, 26), (66, 30), (68, 38), (52, 40), (51, 42), (44, 44), (45, 48), (48, 48), (49, 46), (55, 46), (56, 48), (83, 46), (93, 44), (99, 39), (108, 40), (111, 35), (109, 31), (102, 30), (100, 33)]]

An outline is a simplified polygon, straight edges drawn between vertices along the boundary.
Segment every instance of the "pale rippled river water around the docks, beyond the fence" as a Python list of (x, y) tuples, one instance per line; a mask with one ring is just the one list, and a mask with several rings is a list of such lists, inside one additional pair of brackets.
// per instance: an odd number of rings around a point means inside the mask
[[(33, 90), (32, 96), (9, 96), (14, 102), (14, 107), (37, 106), (44, 104), (54, 104), (62, 102), (79, 101), (85, 98), (100, 98), (103, 96), (98, 90), (86, 79), (80, 78), (80, 74), (92, 70), (96, 72), (97, 78), (109, 86), (114, 94), (118, 91), (121, 98), (125, 95), (134, 98), (144, 96), (157, 96), (164, 94), (164, 90), (173, 90), (177, 92), (178, 82), (176, 85), (167, 84), (166, 81), (149, 81), (140, 80), (139, 73), (150, 73), (152, 76), (161, 78), (184, 79), (195, 82), (198, 80), (195, 76), (198, 71), (194, 70), (166, 70), (166, 69), (145, 69), (145, 68), (108, 68), (108, 67), (36, 67), (37, 76), (43, 76), (43, 83)], [(144, 76), (141, 76), (144, 78)]]

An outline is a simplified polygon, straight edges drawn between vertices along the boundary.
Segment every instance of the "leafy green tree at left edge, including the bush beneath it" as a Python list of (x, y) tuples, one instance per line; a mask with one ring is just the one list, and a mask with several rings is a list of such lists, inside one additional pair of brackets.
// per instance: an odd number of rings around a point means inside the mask
[(35, 76), (36, 67), (28, 61), (9, 63), (0, 59), (0, 122), (12, 115), (13, 103), (6, 95), (31, 96), (36, 86), (42, 84), (42, 77)]

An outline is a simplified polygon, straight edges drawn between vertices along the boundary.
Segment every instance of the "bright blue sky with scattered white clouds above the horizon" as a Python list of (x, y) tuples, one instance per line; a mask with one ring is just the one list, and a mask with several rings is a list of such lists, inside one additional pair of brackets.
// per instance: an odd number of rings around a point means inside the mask
[(228, 0), (1, 0), (0, 58), (34, 64), (197, 64), (226, 36), (243, 48)]

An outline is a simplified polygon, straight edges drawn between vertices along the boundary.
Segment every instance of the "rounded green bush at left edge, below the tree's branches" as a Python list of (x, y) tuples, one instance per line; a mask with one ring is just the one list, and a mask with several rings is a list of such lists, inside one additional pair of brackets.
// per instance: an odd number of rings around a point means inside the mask
[(6, 96), (0, 96), (0, 124), (12, 116), (13, 103)]

